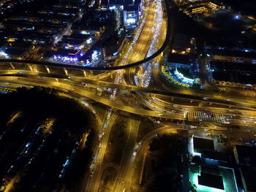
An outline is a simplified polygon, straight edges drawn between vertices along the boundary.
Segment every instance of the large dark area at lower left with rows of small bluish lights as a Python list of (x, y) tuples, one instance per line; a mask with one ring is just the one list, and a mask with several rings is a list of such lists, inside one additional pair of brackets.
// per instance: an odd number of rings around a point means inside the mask
[[(18, 88), (0, 95), (0, 184), (15, 180), (12, 191), (79, 191), (82, 178), (84, 182), (94, 139), (90, 113), (54, 93), (48, 88)], [(16, 112), (20, 115), (7, 124)], [(41, 126), (45, 118), (56, 119), (50, 131)]]

